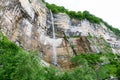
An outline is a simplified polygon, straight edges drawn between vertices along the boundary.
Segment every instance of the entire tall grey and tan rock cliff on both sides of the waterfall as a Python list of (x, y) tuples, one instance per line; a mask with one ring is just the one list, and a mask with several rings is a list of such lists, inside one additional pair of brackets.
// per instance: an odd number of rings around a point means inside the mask
[(54, 14), (56, 39), (52, 38), (50, 11), (41, 0), (1, 0), (0, 29), (18, 46), (39, 50), (52, 62), (52, 45), (57, 47), (58, 63), (71, 65), (70, 58), (80, 53), (120, 54), (120, 39), (103, 23), (70, 19), (64, 13)]

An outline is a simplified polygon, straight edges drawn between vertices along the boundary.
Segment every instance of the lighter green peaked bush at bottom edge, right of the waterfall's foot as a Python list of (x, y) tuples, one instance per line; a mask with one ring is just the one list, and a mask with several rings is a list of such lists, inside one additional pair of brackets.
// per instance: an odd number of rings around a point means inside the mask
[(89, 67), (87, 61), (82, 59), (79, 63), (81, 64), (72, 71), (65, 72), (62, 80), (96, 80), (96, 73)]

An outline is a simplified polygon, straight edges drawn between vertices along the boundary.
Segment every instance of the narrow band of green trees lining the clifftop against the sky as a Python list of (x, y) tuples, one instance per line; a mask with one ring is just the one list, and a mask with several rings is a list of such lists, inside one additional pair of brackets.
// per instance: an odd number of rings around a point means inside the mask
[(113, 28), (111, 25), (109, 25), (107, 22), (105, 22), (104, 20), (102, 20), (99, 17), (96, 17), (93, 14), (90, 14), (88, 11), (69, 11), (68, 9), (65, 9), (63, 6), (57, 6), (55, 4), (49, 4), (46, 3), (46, 6), (48, 9), (52, 10), (53, 13), (57, 14), (57, 13), (66, 13), (68, 16), (70, 16), (70, 18), (74, 18), (74, 19), (78, 19), (78, 20), (84, 20), (87, 19), (88, 21), (90, 21), (91, 23), (96, 23), (96, 24), (100, 24), (101, 22), (104, 23), (111, 31), (113, 31), (118, 37), (120, 37), (120, 30), (117, 28)]

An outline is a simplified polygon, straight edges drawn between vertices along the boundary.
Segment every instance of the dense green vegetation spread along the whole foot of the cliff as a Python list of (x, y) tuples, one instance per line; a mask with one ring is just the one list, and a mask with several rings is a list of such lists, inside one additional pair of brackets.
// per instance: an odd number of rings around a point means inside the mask
[(37, 52), (27, 52), (0, 33), (0, 80), (102, 80), (120, 78), (120, 56), (81, 54), (71, 59), (76, 68), (62, 71), (45, 66)]

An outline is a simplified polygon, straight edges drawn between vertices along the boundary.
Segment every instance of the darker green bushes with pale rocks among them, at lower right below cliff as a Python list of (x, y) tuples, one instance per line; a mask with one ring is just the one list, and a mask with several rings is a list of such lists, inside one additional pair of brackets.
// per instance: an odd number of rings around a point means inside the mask
[[(117, 58), (116, 58), (117, 57)], [(102, 59), (104, 58), (104, 59)], [(112, 53), (104, 54), (80, 54), (71, 59), (72, 62), (76, 62), (79, 66), (82, 66), (82, 69), (90, 69), (97, 80), (109, 79), (110, 76), (120, 76), (119, 67), (120, 67), (120, 57), (119, 55), (114, 55)], [(84, 65), (87, 65), (86, 66)], [(79, 69), (80, 72), (81, 69)], [(84, 70), (85, 71), (85, 70)], [(82, 74), (81, 74), (82, 75)], [(93, 76), (91, 75), (91, 76)]]

